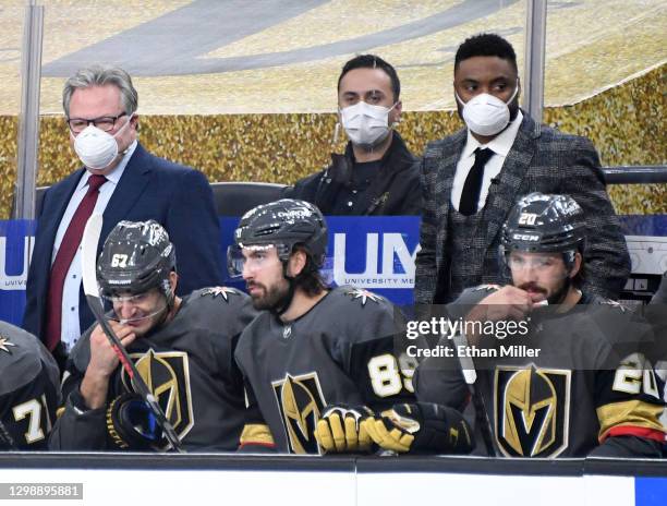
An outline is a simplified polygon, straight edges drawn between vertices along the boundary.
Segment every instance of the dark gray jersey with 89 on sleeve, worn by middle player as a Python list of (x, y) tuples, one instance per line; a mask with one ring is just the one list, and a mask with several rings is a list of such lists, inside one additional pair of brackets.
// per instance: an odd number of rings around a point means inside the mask
[[(401, 316), (386, 299), (348, 286), (300, 318), (264, 312), (239, 339), (237, 362), (278, 450), (318, 454), (314, 427), (327, 405), (381, 411), (414, 398), (414, 364), (397, 357)], [(396, 318), (396, 322), (395, 322)]]

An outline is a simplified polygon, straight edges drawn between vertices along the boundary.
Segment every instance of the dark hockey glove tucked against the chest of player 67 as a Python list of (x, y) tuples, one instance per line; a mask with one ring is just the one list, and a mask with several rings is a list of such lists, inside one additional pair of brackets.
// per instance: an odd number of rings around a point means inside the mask
[(167, 444), (155, 414), (136, 394), (123, 394), (107, 409), (107, 430), (111, 441), (130, 450), (158, 450)]

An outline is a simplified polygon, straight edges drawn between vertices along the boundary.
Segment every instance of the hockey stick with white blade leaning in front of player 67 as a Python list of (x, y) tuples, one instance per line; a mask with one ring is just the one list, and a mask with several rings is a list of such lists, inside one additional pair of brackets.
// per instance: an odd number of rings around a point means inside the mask
[(185, 450), (181, 445), (181, 441), (179, 439), (173, 426), (165, 415), (162, 408), (160, 408), (160, 405), (146, 385), (146, 382), (144, 382), (144, 378), (136, 370), (136, 365), (134, 365), (134, 362), (128, 354), (128, 351), (125, 351), (125, 348), (105, 317), (105, 310), (101, 300), (99, 299), (96, 272), (97, 243), (99, 242), (99, 237), (101, 234), (101, 227), (102, 216), (99, 214), (92, 215), (90, 218), (88, 218), (88, 222), (86, 224), (82, 239), (81, 267), (86, 301), (88, 302), (88, 306), (90, 308), (90, 311), (93, 311), (97, 323), (99, 323), (100, 327), (107, 335), (107, 338), (109, 339), (113, 351), (118, 356), (118, 359), (130, 376), (134, 390), (142, 396), (146, 405), (150, 408), (150, 411), (153, 411), (153, 414), (155, 414), (158, 425), (162, 430), (172, 448), (179, 453), (184, 453)]

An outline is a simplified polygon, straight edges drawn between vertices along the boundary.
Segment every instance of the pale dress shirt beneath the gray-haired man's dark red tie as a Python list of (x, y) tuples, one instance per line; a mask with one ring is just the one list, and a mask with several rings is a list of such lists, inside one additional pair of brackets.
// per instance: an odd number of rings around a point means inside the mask
[[(134, 149), (136, 148), (136, 141), (134, 141), (130, 147), (128, 148), (125, 155), (121, 159), (118, 167), (113, 169), (110, 173), (106, 176), (107, 181), (99, 188), (99, 195), (97, 196), (97, 202), (95, 203), (95, 208), (93, 213), (104, 213), (107, 208), (107, 204), (111, 200), (111, 195), (116, 191), (116, 186), (123, 176), (125, 171), (125, 167), (128, 166), (128, 161), (132, 157)], [(58, 250), (60, 249), (60, 244), (62, 243), (62, 239), (68, 231), (68, 227), (70, 226), (70, 221), (72, 221), (72, 217), (74, 213), (78, 208), (78, 204), (83, 201), (86, 192), (88, 191), (88, 178), (90, 177), (90, 172), (87, 170), (81, 177), (78, 184), (76, 185), (76, 190), (72, 194), (70, 198), (70, 203), (62, 215), (62, 219), (60, 220), (60, 225), (58, 226), (58, 231), (56, 232), (56, 241), (53, 242), (53, 251), (51, 253), (51, 265), (56, 261), (56, 255), (58, 254)], [(64, 285), (62, 288), (62, 320), (61, 320), (61, 339), (62, 344), (65, 346), (65, 349), (69, 351), (72, 349), (74, 344), (81, 337), (82, 329), (78, 324), (78, 291), (81, 289), (81, 244), (76, 250), (76, 254), (74, 255), (74, 260), (70, 264), (70, 268), (68, 270), (68, 275), (65, 276)], [(85, 328), (83, 329), (85, 330)]]

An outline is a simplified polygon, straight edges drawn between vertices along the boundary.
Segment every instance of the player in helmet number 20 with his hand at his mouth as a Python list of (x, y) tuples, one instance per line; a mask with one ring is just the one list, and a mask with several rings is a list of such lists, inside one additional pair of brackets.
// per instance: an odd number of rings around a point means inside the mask
[[(569, 196), (521, 198), (501, 237), (512, 284), (465, 290), (448, 312), (466, 344), (447, 336), (440, 342), (453, 358), (417, 369), (420, 400), (463, 410), (468, 385), (452, 363), (476, 357), (499, 455), (660, 456), (660, 385), (639, 342), (650, 330), (618, 303), (580, 290), (583, 220)], [(510, 327), (517, 332), (500, 335)]]

